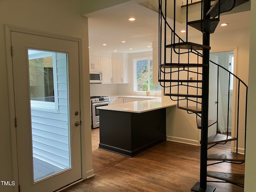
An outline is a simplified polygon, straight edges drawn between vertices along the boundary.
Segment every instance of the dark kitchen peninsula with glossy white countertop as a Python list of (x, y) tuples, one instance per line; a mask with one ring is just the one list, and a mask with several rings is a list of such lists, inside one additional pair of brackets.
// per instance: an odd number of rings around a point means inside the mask
[(166, 108), (161, 99), (98, 107), (99, 148), (133, 157), (166, 140)]

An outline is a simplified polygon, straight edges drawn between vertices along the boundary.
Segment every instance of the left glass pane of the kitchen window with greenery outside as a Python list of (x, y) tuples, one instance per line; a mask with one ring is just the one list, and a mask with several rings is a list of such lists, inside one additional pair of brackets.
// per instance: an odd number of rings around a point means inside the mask
[(136, 91), (146, 91), (148, 85), (148, 59), (136, 60)]

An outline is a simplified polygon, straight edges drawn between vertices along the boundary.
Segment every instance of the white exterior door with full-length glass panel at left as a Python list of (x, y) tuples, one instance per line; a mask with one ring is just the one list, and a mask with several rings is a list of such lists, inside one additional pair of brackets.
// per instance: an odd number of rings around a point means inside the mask
[(20, 191), (52, 192), (82, 178), (78, 42), (11, 42)]

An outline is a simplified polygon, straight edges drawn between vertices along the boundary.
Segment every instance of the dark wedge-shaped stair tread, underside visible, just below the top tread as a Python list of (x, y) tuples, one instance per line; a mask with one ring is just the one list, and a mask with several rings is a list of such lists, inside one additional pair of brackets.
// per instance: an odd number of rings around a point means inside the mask
[(188, 22), (188, 25), (206, 33), (214, 33), (216, 27), (218, 26), (220, 19), (219, 18), (212, 18), (212, 19), (203, 19), (197, 21)]

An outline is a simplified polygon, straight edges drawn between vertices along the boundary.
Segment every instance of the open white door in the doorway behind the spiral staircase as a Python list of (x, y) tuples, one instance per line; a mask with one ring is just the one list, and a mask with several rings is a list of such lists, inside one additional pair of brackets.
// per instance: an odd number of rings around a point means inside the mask
[[(210, 60), (218, 64), (218, 56), (210, 54)], [(210, 62), (208, 119), (217, 120), (218, 67)], [(208, 129), (208, 136), (216, 134), (217, 124)]]

